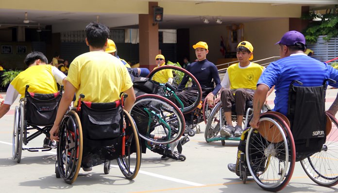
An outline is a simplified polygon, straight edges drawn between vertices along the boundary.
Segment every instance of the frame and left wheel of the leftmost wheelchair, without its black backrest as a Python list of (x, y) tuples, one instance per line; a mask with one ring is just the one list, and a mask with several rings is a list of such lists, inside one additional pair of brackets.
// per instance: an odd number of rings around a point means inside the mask
[[(17, 161), (17, 163), (20, 163), (21, 161), (21, 153), (22, 150), (28, 150), (31, 152), (36, 152), (41, 149), (41, 151), (50, 151), (51, 148), (27, 148), (23, 147), (22, 144), (27, 145), (31, 140), (34, 138), (38, 137), (40, 134), (46, 134), (46, 136), (49, 136), (49, 130), (53, 126), (51, 125), (36, 125), (29, 123), (26, 119), (26, 104), (27, 104), (27, 98), (30, 96), (28, 92), (29, 85), (26, 85), (25, 89), (25, 97), (20, 99), (20, 104), (19, 106), (15, 107), (15, 112), (14, 112), (14, 124), (13, 124), (13, 147), (12, 147), (12, 156), (13, 159)], [(62, 90), (63, 86), (60, 88), (59, 95), (62, 97)], [(32, 97), (33, 98), (33, 97)], [(34, 100), (38, 100), (35, 99)], [(49, 100), (38, 100), (38, 101), (51, 101), (53, 99)], [(57, 109), (56, 109), (57, 110)], [(29, 134), (29, 131), (31, 130), (37, 130), (33, 134)]]

